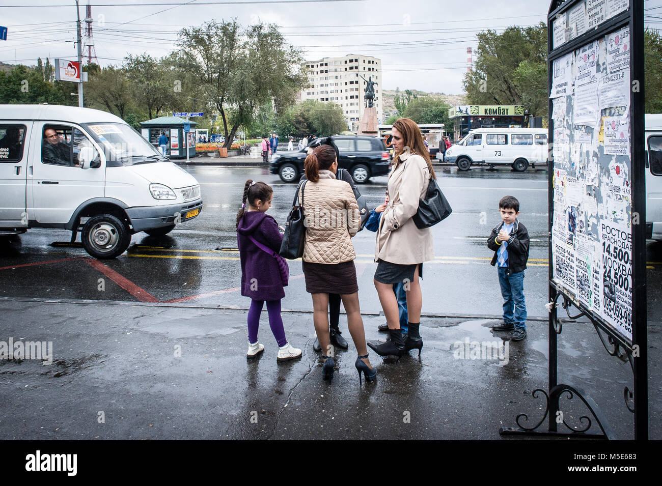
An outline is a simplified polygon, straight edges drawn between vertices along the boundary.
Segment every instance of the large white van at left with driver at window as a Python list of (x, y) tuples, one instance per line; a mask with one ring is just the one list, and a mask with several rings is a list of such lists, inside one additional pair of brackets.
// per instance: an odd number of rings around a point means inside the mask
[(195, 178), (117, 116), (0, 104), (0, 235), (81, 231), (87, 253), (109, 259), (132, 233), (165, 235), (202, 205)]

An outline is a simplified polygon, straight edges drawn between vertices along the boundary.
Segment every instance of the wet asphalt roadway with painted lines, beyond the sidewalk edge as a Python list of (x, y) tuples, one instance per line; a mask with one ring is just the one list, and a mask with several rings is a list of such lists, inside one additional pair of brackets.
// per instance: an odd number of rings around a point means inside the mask
[[(248, 307), (240, 296), (235, 216), (246, 179), (273, 186), (269, 214), (284, 223), (294, 184), (285, 184), (263, 167), (189, 166), (201, 184), (200, 216), (182, 223), (165, 237), (137, 233), (130, 248), (115, 260), (95, 261), (79, 247), (53, 247), (68, 242), (70, 232), (31, 229), (11, 241), (0, 240), (0, 296), (186, 302), (205, 307)], [(433, 227), (434, 262), (424, 265), (423, 311), (431, 315), (499, 315), (501, 298), (491, 251), (485, 245), (500, 221), (498, 200), (512, 194), (520, 200), (520, 220), (531, 237), (525, 292), (530, 317), (546, 316), (547, 302), (547, 172), (474, 169), (459, 173), (444, 167), (440, 185), (453, 207), (447, 220)], [(387, 177), (359, 186), (369, 206), (383, 202)], [(375, 233), (354, 237), (361, 310), (381, 310), (372, 282)], [(649, 242), (649, 309), (662, 310), (662, 244)], [(300, 262), (291, 262), (291, 282), (284, 309), (310, 310), (310, 296)], [(103, 286), (101, 281), (103, 279)], [(650, 314), (649, 314), (650, 315)]]

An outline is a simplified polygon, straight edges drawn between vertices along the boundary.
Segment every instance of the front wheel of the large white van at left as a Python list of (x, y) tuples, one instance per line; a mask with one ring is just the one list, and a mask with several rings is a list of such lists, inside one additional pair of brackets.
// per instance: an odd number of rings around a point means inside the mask
[(112, 214), (102, 214), (89, 218), (81, 241), (85, 251), (98, 259), (111, 259), (122, 255), (131, 243), (128, 225)]

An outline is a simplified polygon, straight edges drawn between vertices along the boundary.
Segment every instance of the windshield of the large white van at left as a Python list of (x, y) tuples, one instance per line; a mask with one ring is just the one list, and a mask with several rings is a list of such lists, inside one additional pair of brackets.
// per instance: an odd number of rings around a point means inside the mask
[(122, 123), (87, 123), (88, 132), (103, 147), (107, 167), (167, 161), (154, 145)]

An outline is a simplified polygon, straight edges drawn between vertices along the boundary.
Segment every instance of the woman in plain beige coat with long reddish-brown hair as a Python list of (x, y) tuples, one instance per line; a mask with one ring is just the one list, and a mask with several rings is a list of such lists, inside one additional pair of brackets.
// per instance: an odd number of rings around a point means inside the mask
[[(419, 276), (423, 263), (434, 259), (432, 231), (418, 229), (412, 217), (418, 211), (418, 201), (425, 198), (430, 178), (436, 179), (428, 149), (416, 123), (400, 118), (392, 130), (395, 165), (389, 175), (389, 202), (379, 221), (374, 282), (379, 294), (391, 339), (386, 343), (368, 345), (379, 356), (402, 356), (412, 349), (420, 351), (423, 340), (419, 334), (422, 295)], [(406, 292), (408, 331), (402, 339), (398, 302), (393, 284), (402, 283)]]

